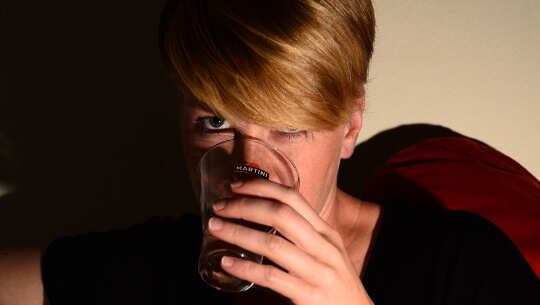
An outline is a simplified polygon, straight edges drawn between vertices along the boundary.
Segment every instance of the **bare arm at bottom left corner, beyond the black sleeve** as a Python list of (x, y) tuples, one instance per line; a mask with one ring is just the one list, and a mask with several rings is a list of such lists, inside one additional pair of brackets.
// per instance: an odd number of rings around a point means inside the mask
[(43, 249), (0, 250), (0, 304), (47, 304), (41, 282)]

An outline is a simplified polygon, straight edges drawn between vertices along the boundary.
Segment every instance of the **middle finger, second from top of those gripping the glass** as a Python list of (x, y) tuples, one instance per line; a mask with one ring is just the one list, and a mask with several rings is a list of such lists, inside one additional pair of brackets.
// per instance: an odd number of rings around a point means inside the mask
[(214, 213), (226, 218), (238, 218), (273, 227), (296, 246), (324, 259), (323, 238), (302, 215), (292, 207), (271, 199), (240, 197), (214, 204)]

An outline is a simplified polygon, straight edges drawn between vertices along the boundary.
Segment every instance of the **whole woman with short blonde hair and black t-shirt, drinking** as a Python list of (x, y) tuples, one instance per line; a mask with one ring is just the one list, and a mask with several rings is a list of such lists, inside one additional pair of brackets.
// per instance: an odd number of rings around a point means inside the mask
[[(298, 192), (244, 181), (232, 185), (237, 199), (214, 206), (281, 236), (209, 221), (214, 236), (274, 263), (221, 262), (266, 289), (206, 287), (195, 266), (200, 224), (183, 217), (56, 240), (42, 261), (51, 304), (536, 304), (538, 280), (486, 221), (399, 200), (363, 202), (337, 188), (340, 160), (352, 155), (362, 125), (375, 36), (369, 0), (180, 0), (162, 17), (191, 177), (209, 147), (237, 137), (277, 146), (298, 169)], [(11, 296), (28, 295), (24, 287), (39, 294), (33, 266), (27, 286), (5, 285), (18, 289)]]

